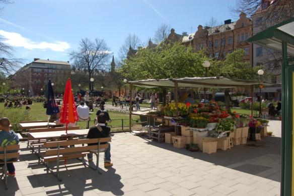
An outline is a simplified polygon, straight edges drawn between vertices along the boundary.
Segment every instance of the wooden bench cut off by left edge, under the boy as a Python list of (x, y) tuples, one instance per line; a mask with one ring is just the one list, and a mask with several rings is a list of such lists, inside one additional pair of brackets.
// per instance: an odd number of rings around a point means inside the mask
[[(5, 188), (8, 189), (7, 186), (7, 163), (18, 162), (20, 153), (19, 153), (20, 145), (9, 145), (7, 147), (0, 147), (0, 167), (3, 167), (3, 175), (5, 180)], [(12, 152), (11, 152), (12, 151)], [(1, 176), (1, 178), (2, 178)], [(1, 179), (0, 178), (0, 179)]]

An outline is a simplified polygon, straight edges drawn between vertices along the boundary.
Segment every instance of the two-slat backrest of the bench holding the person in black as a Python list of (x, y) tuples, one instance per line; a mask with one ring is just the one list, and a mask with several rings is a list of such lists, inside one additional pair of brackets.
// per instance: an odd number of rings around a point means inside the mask
[[(111, 138), (95, 138), (95, 139), (75, 139), (75, 140), (67, 140), (67, 141), (56, 141), (56, 142), (45, 142), (44, 146), (46, 148), (54, 148), (59, 147), (59, 149), (47, 149), (45, 155), (57, 155), (64, 153), (81, 153), (89, 150), (100, 150), (108, 148), (108, 144), (101, 144), (104, 142), (111, 142)], [(79, 144), (95, 144), (92, 146), (78, 146), (78, 147), (70, 147), (63, 148), (63, 146), (71, 146), (71, 145), (79, 145)], [(62, 148), (60, 148), (62, 147)]]

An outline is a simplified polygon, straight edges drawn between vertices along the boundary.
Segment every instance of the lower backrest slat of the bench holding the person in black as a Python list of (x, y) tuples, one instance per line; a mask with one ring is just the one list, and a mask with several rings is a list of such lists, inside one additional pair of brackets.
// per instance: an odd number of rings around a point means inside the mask
[[(108, 148), (108, 144), (101, 144), (99, 146), (99, 149), (106, 149), (106, 148)], [(83, 152), (83, 151), (90, 151), (90, 150), (97, 150), (97, 145), (63, 148), (63, 149), (59, 149), (59, 154)], [(57, 155), (57, 152), (58, 152), (58, 149), (48, 149), (46, 150), (45, 155)]]

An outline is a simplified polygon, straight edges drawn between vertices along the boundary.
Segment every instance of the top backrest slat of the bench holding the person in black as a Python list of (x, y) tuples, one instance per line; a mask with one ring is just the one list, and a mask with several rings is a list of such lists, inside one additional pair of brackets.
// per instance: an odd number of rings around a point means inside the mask
[(69, 146), (69, 145), (76, 145), (76, 144), (93, 144), (102, 142), (111, 142), (111, 138), (94, 138), (94, 139), (75, 139), (75, 140), (66, 140), (66, 141), (56, 141), (56, 142), (46, 142), (44, 146), (47, 148), (50, 147), (57, 147), (58, 143), (59, 146)]

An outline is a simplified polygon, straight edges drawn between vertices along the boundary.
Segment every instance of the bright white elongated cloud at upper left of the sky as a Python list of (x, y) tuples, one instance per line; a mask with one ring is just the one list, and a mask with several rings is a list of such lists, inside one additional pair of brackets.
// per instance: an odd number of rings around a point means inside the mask
[(70, 45), (64, 41), (55, 42), (34, 42), (19, 33), (0, 30), (0, 35), (5, 39), (3, 42), (11, 46), (24, 47), (27, 49), (51, 49), (53, 51), (63, 52), (70, 48)]

